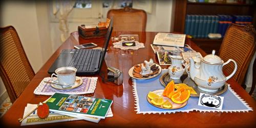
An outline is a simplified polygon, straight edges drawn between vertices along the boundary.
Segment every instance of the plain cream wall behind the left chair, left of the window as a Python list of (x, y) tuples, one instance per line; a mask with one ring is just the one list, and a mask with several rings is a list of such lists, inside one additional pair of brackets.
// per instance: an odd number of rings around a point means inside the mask
[[(1, 2), (0, 27), (12, 25), (16, 29), (35, 73), (53, 53), (48, 15), (47, 3), (34, 1)], [(6, 92), (2, 80), (0, 89), (0, 96), (2, 96)]]

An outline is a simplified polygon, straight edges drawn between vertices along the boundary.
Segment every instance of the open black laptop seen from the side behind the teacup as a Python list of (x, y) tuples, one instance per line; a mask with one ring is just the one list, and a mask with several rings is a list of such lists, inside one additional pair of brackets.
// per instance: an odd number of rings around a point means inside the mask
[(48, 73), (55, 73), (60, 67), (75, 67), (77, 75), (98, 73), (104, 61), (112, 30), (111, 20), (102, 49), (63, 49)]

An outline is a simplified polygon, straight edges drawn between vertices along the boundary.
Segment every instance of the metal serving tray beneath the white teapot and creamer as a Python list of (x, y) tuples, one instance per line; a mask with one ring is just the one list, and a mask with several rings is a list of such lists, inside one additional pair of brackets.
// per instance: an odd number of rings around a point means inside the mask
[[(160, 77), (160, 83), (165, 87), (170, 81), (172, 81), (172, 79), (170, 79), (170, 76), (168, 74), (168, 72), (164, 73), (161, 75)], [(187, 86), (190, 86), (190, 87), (193, 87), (193, 89), (197, 92), (197, 95), (196, 94), (190, 94), (190, 96), (193, 96), (193, 97), (199, 97), (200, 96), (200, 93), (206, 93), (206, 94), (213, 94), (213, 95), (221, 95), (223, 94), (224, 92), (227, 91), (227, 83), (224, 84), (224, 86), (222, 86), (221, 88), (218, 89), (218, 91), (216, 92), (206, 92), (206, 91), (203, 91), (201, 89), (198, 88), (198, 86), (196, 85), (196, 83), (191, 80), (187, 74), (183, 74), (181, 76), (181, 78), (179, 80), (174, 80), (174, 83), (175, 84), (180, 84), (180, 83), (184, 83), (186, 84)]]

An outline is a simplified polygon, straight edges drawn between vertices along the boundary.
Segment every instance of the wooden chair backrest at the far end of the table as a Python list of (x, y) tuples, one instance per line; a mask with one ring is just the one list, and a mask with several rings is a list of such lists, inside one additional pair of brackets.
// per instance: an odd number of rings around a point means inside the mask
[(111, 9), (108, 18), (113, 20), (113, 31), (145, 31), (146, 12), (144, 10), (124, 7), (123, 9)]

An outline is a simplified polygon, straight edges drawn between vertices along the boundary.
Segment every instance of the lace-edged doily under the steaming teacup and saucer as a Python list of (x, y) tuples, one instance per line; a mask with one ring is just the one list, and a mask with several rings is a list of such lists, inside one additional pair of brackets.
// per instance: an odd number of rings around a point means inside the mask
[(80, 94), (88, 94), (94, 93), (97, 84), (97, 77), (81, 77), (82, 85), (74, 89), (68, 90), (59, 90), (53, 88), (49, 83), (45, 83), (44, 81), (51, 81), (50, 77), (44, 78), (41, 83), (34, 90), (34, 94), (37, 95), (53, 95), (55, 92), (66, 93), (71, 95), (80, 95)]

